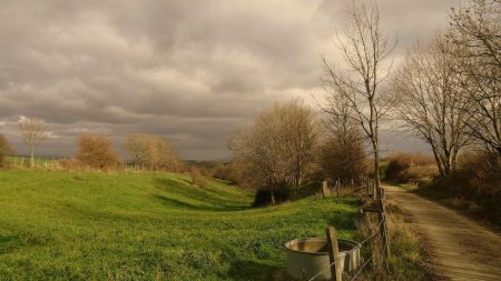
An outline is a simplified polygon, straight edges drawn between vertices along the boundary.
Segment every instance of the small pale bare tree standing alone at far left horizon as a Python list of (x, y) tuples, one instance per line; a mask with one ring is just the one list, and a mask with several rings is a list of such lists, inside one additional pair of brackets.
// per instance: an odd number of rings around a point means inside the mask
[(19, 119), (19, 132), (22, 141), (30, 151), (30, 167), (33, 167), (35, 148), (49, 136), (46, 129), (46, 122), (42, 119), (33, 117), (21, 117)]

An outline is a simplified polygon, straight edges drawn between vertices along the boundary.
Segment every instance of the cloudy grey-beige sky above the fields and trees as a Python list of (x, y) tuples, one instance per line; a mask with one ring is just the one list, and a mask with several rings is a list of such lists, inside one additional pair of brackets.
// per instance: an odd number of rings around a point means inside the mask
[[(104, 133), (124, 152), (159, 134), (184, 159), (230, 157), (227, 140), (266, 107), (323, 96), (321, 58), (338, 61), (344, 0), (0, 0), (0, 133), (24, 154), (20, 117), (51, 132), (37, 153), (71, 157)], [(393, 59), (446, 27), (459, 0), (380, 0)], [(385, 130), (383, 150), (426, 152)]]

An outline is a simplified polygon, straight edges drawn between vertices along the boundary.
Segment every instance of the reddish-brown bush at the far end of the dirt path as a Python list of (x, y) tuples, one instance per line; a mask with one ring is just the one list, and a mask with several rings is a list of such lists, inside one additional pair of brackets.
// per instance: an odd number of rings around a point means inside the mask
[(422, 181), (438, 174), (434, 159), (423, 154), (393, 154), (385, 170), (386, 180), (400, 183)]

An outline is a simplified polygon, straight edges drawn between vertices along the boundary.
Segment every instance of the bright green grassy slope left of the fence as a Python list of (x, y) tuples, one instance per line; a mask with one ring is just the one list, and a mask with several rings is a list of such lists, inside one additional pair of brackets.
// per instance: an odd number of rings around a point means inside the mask
[(353, 199), (250, 201), (176, 174), (0, 171), (0, 280), (271, 280), (287, 240), (354, 233)]

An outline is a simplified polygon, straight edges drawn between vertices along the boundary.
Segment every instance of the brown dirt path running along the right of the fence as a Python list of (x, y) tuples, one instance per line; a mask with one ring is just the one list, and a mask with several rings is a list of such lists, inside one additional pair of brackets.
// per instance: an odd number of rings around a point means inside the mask
[[(501, 281), (501, 237), (435, 202), (385, 185), (430, 243), (434, 263), (451, 280)], [(500, 202), (501, 203), (501, 202)]]

